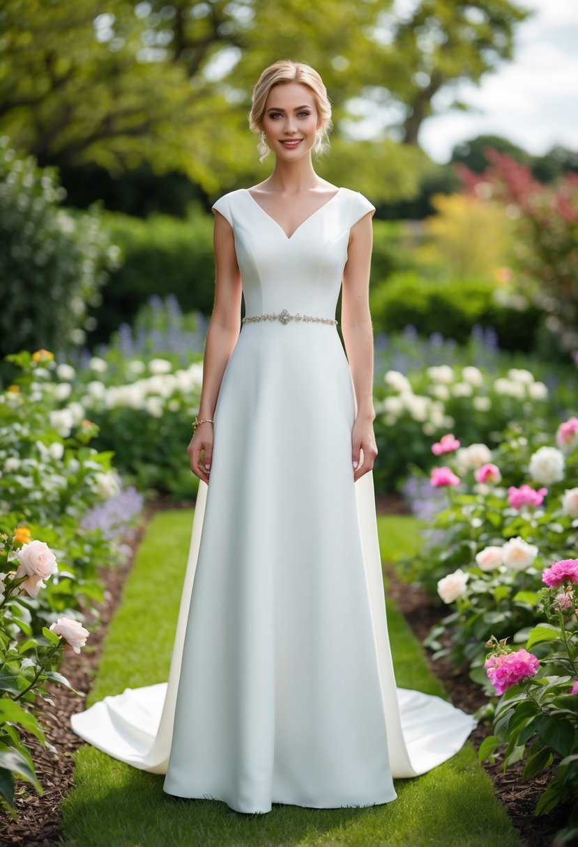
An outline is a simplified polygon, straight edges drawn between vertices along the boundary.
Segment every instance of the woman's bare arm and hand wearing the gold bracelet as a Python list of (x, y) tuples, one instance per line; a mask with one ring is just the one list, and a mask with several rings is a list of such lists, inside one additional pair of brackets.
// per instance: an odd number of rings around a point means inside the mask
[[(241, 274), (231, 224), (214, 214), (214, 307), (203, 358), (203, 390), (199, 419), (212, 420), (225, 368), (241, 329)], [(186, 448), (191, 470), (208, 483), (213, 457), (213, 424), (199, 424)], [(201, 455), (203, 454), (203, 459)]]

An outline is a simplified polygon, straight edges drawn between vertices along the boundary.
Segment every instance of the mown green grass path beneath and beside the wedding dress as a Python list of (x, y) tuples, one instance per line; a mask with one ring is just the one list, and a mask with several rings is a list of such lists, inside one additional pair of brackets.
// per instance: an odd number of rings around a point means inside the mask
[[(150, 523), (111, 622), (88, 705), (126, 686), (166, 678), (191, 531), (190, 512), (159, 512)], [(411, 518), (380, 518), (381, 551), (411, 553)], [(388, 604), (397, 682), (443, 695), (403, 616)], [(173, 800), (163, 777), (137, 771), (86, 745), (75, 756), (64, 801), (66, 847), (516, 847), (516, 833), (468, 743), (451, 761), (396, 781), (394, 803), (364, 809), (274, 805), (244, 816), (216, 800)]]

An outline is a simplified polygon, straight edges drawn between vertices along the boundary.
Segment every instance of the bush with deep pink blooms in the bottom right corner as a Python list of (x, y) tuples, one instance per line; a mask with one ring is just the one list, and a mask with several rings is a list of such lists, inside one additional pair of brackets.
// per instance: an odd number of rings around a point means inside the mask
[(480, 758), (494, 759), (499, 751), (504, 770), (524, 759), (525, 779), (551, 768), (536, 814), (564, 802), (573, 805), (559, 844), (574, 843), (578, 837), (577, 609), (578, 559), (553, 562), (542, 572), (536, 604), (541, 620), (514, 636), (514, 641), (523, 639), (525, 647), (513, 650), (506, 639), (493, 636), (485, 662), (500, 700), (493, 714), (494, 734), (482, 742)]

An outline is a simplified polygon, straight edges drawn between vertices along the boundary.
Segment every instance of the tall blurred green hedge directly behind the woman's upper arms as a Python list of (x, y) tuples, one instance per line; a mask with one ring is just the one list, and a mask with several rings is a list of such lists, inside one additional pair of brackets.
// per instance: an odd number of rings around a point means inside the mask
[[(121, 267), (103, 289), (102, 304), (92, 309), (97, 329), (90, 343), (106, 342), (120, 324), (131, 323), (151, 295), (176, 296), (183, 312), (213, 310), (213, 215), (188, 219), (152, 215), (131, 218), (103, 214), (103, 226), (122, 253)], [(375, 221), (372, 279), (382, 280), (407, 268), (402, 224)]]

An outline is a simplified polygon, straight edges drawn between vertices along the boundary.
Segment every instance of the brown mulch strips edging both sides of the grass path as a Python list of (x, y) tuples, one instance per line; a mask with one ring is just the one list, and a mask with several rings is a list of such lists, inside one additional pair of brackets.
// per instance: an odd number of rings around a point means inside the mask
[[(379, 496), (377, 509), (381, 514), (403, 514), (403, 499), (397, 495)], [(192, 504), (178, 504), (190, 508)], [(131, 540), (132, 554), (142, 539), (144, 527), (153, 512), (164, 508), (176, 508), (170, 501), (157, 501), (147, 507), (142, 526), (137, 529)], [(97, 673), (102, 653), (103, 636), (108, 622), (121, 599), (122, 588), (131, 569), (133, 556), (129, 556), (122, 567), (103, 568), (101, 577), (105, 586), (104, 602), (100, 607), (98, 621), (88, 621), (90, 638), (80, 656), (70, 648), (66, 649), (60, 672), (78, 691), (86, 692), (91, 688), (92, 679)], [(410, 627), (418, 639), (425, 638), (429, 628), (440, 617), (439, 607), (435, 606), (425, 591), (397, 579), (392, 568), (387, 567), (388, 595), (407, 618)], [(451, 695), (454, 706), (464, 711), (474, 712), (486, 703), (481, 689), (468, 676), (465, 670), (450, 667), (447, 662), (438, 659), (435, 662), (428, 656), (432, 673), (442, 680), (442, 684)], [(40, 719), (46, 729), (47, 739), (58, 750), (54, 755), (30, 739), (36, 772), (44, 788), (39, 797), (34, 789), (23, 781), (16, 783), (17, 800), (15, 802), (19, 817), (13, 820), (0, 811), (0, 845), (2, 847), (56, 847), (62, 836), (60, 830), (60, 805), (73, 781), (73, 756), (84, 742), (69, 728), (70, 715), (84, 708), (84, 698), (64, 689), (52, 686), (53, 705), (46, 705)], [(486, 735), (492, 734), (491, 724), (481, 723), (470, 736), (477, 748)], [(28, 739), (27, 739), (28, 740)], [(536, 802), (547, 782), (547, 773), (525, 782), (521, 778), (522, 764), (509, 767), (504, 774), (499, 759), (495, 764), (488, 762), (483, 766), (492, 779), (495, 794), (508, 811), (514, 827), (520, 833), (521, 847), (555, 847), (553, 835), (563, 825), (563, 810), (557, 809), (548, 815), (534, 816)], [(114, 847), (111, 844), (111, 847)]]

